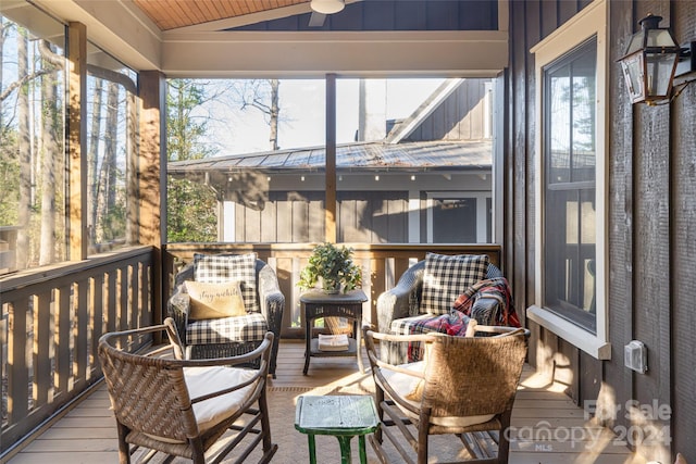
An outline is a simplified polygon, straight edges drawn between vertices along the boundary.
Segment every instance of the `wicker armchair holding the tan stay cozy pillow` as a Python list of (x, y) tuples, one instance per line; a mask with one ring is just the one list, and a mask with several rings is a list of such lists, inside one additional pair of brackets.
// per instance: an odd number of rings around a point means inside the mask
[[(265, 333), (268, 329), (275, 336), (273, 340), (273, 349), (271, 351), (271, 365), (269, 368), (269, 373), (273, 378), (275, 378), (278, 342), (281, 340), (281, 324), (283, 321), (283, 311), (285, 310), (285, 297), (281, 292), (275, 271), (273, 271), (269, 264), (258, 259), (256, 260), (256, 277), (258, 289), (256, 299), (260, 308), (260, 314), (263, 316), (261, 319), (263, 329), (253, 330), (251, 333), (258, 335)], [(228, 333), (225, 333), (228, 328), (227, 326), (222, 329), (219, 326), (211, 326), (209, 329), (201, 329), (201, 326), (207, 326), (209, 321), (195, 322), (189, 318), (190, 299), (186, 293), (184, 283), (192, 279), (194, 263), (189, 263), (176, 274), (174, 293), (167, 301), (166, 305), (167, 315), (174, 319), (176, 328), (181, 335), (182, 342), (186, 350), (186, 359), (197, 360), (235, 356), (248, 353), (256, 349), (261, 343), (262, 336), (256, 336), (253, 339), (238, 339), (238, 330), (229, 330)], [(214, 338), (222, 338), (224, 341), (191, 342), (188, 333), (192, 329), (192, 323), (196, 323), (195, 325), (197, 328), (195, 330), (197, 330), (198, 334), (201, 334), (203, 330), (209, 331), (210, 334), (214, 334)], [(259, 321), (254, 321), (253, 323), (258, 324)]]

